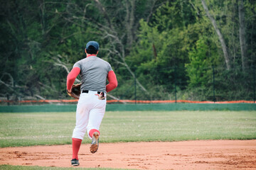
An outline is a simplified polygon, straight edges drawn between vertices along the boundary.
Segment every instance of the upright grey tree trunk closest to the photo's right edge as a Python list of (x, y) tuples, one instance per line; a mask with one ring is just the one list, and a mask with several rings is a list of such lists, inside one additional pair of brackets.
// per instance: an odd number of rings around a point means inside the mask
[(247, 67), (247, 56), (246, 56), (246, 42), (245, 42), (245, 8), (243, 1), (238, 1), (238, 14), (239, 14), (239, 38), (241, 47), (241, 57), (242, 57), (242, 71), (245, 72)]

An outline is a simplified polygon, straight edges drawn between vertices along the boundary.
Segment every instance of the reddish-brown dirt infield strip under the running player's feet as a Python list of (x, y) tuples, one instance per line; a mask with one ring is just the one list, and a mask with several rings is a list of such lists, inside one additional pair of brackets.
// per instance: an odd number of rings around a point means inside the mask
[[(122, 169), (256, 169), (256, 140), (100, 143), (80, 148), (80, 167)], [(70, 167), (71, 145), (6, 147), (0, 164)]]

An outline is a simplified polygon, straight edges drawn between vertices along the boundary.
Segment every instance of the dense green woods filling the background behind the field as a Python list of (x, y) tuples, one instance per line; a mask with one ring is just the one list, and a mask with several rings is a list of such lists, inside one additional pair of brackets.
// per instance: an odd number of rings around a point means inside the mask
[(203, 0), (2, 1), (0, 95), (68, 98), (67, 74), (96, 40), (116, 98), (253, 100), (256, 1), (206, 5), (227, 54)]

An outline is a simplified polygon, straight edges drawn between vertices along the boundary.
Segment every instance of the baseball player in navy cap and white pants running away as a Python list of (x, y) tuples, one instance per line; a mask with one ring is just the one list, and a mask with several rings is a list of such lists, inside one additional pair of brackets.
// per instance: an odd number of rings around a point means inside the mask
[[(73, 159), (72, 166), (78, 166), (78, 151), (87, 132), (92, 140), (90, 152), (95, 153), (99, 147), (100, 124), (105, 114), (106, 94), (117, 87), (110, 63), (97, 57), (99, 44), (87, 42), (86, 58), (76, 62), (67, 77), (67, 91), (71, 92), (75, 78), (80, 74), (81, 94), (76, 109), (76, 123), (72, 136)], [(106, 79), (109, 84), (106, 86)]]

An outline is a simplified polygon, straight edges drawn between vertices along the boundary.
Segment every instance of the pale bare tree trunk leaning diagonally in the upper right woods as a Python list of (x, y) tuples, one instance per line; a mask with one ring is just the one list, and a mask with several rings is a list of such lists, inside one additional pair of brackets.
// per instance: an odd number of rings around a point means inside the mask
[(225, 57), (225, 63), (226, 63), (226, 65), (227, 65), (227, 68), (230, 69), (230, 68), (231, 68), (230, 57), (229, 57), (229, 55), (228, 55), (228, 48), (227, 48), (227, 46), (225, 45), (225, 40), (224, 40), (224, 38), (223, 38), (223, 35), (222, 35), (222, 33), (220, 33), (220, 30), (219, 30), (219, 28), (218, 28), (218, 26), (217, 26), (217, 23), (216, 23), (215, 19), (214, 19), (212, 16), (210, 16), (208, 7), (206, 6), (206, 2), (205, 2), (204, 0), (201, 0), (201, 1), (202, 1), (202, 4), (203, 4), (203, 8), (204, 8), (204, 10), (206, 11), (206, 14), (207, 14), (208, 18), (210, 19), (210, 22), (213, 24), (213, 27), (214, 27), (214, 29), (215, 29), (215, 31), (216, 31), (216, 33), (217, 33), (217, 35), (218, 35), (218, 38), (219, 38), (219, 40), (220, 40), (220, 43), (221, 43), (221, 47), (222, 47), (222, 49), (223, 49), (223, 53), (224, 53), (224, 57)]

